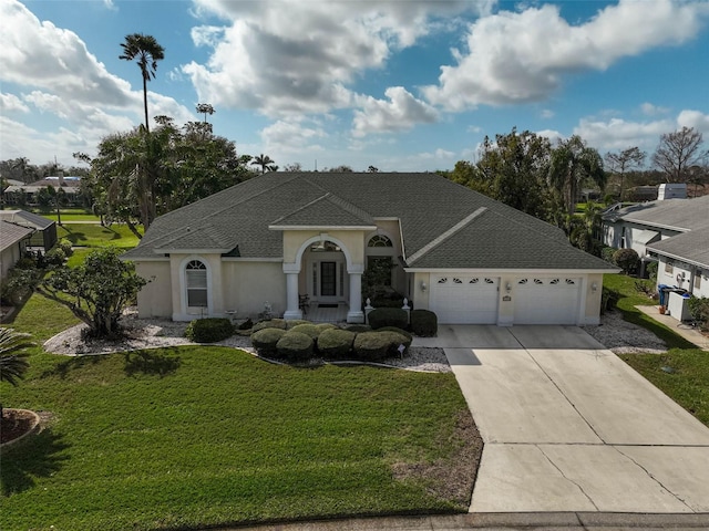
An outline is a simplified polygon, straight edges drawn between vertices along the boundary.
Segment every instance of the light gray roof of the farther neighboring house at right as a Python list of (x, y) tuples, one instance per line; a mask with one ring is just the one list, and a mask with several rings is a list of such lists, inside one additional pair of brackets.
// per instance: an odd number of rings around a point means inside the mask
[(608, 212), (604, 219), (608, 221), (623, 219), (648, 227), (675, 229), (679, 232), (708, 228), (709, 196), (640, 202)]

